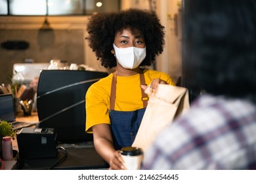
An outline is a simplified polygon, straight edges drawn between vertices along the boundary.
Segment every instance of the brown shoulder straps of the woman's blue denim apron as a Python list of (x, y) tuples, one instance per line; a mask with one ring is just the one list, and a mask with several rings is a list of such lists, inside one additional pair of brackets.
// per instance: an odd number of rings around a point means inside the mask
[[(110, 110), (114, 110), (115, 101), (116, 101), (116, 71), (113, 73), (112, 84), (111, 84), (111, 92), (110, 92)], [(143, 69), (140, 69), (140, 84), (146, 85), (145, 76), (143, 73)], [(148, 105), (148, 95), (141, 88), (141, 100), (143, 102), (143, 108), (146, 108)]]

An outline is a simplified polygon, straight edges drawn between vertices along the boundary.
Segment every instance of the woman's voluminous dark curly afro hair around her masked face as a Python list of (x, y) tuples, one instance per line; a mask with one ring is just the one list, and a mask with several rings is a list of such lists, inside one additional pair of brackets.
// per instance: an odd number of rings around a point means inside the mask
[(87, 24), (89, 46), (104, 67), (116, 67), (116, 58), (111, 54), (114, 38), (118, 31), (130, 28), (140, 31), (146, 42), (146, 58), (140, 65), (151, 65), (156, 56), (163, 52), (164, 27), (156, 13), (150, 10), (130, 8), (120, 12), (93, 14)]

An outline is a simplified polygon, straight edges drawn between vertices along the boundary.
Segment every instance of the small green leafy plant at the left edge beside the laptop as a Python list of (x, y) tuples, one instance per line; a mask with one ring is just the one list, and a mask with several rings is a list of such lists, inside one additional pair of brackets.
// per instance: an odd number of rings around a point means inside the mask
[(11, 137), (14, 139), (16, 137), (16, 131), (12, 129), (12, 125), (5, 120), (0, 120), (0, 158), (2, 156), (2, 141), (3, 137)]

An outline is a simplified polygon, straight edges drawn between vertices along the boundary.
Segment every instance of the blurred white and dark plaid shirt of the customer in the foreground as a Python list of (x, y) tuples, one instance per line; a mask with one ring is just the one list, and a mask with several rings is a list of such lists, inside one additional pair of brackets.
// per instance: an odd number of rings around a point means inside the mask
[(142, 169), (256, 169), (256, 106), (202, 95), (158, 135)]

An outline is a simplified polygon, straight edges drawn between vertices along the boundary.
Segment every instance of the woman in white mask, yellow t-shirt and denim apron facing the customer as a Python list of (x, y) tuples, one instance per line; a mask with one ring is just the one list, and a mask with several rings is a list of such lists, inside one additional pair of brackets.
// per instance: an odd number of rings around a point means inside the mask
[(102, 66), (116, 67), (85, 97), (86, 131), (110, 169), (125, 169), (118, 150), (133, 144), (148, 102), (143, 89), (175, 85), (169, 75), (142, 67), (163, 52), (163, 29), (154, 12), (139, 9), (93, 14), (88, 22), (89, 46)]

